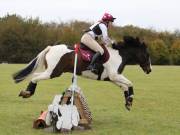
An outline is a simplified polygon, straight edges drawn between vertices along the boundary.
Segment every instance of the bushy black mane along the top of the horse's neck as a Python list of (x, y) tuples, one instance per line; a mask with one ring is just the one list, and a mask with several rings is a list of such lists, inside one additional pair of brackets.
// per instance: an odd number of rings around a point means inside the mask
[(146, 47), (144, 42), (141, 42), (138, 37), (134, 38), (132, 36), (124, 36), (123, 41), (117, 42), (117, 44), (112, 45), (113, 49), (122, 49), (128, 47)]

